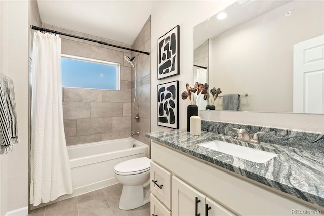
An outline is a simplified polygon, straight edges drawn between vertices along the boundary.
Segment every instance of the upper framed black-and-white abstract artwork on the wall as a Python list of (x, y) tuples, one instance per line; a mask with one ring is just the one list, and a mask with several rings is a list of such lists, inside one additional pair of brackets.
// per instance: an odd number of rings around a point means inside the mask
[(179, 25), (157, 40), (157, 79), (164, 79), (180, 73), (179, 41)]

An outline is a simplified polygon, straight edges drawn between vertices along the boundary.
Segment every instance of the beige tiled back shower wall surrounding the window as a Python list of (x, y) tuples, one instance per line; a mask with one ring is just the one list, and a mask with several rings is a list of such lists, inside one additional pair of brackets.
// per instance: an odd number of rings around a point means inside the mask
[[(42, 24), (43, 28), (131, 48), (104, 38)], [(130, 137), (132, 71), (124, 55), (131, 52), (86, 40), (61, 36), (62, 54), (117, 62), (121, 90), (63, 88), (63, 118), (67, 145)]]

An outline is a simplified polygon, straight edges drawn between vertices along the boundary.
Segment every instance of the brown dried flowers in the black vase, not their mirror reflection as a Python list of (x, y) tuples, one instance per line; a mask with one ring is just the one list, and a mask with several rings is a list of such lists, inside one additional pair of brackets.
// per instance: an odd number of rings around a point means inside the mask
[[(181, 94), (181, 98), (183, 100), (186, 100), (188, 98), (188, 100), (190, 101), (191, 105), (195, 105), (197, 103), (197, 101), (199, 100), (199, 98), (201, 97), (201, 95), (208, 94), (208, 83), (205, 84), (201, 84), (201, 83), (194, 83), (194, 87), (191, 88), (190, 85), (187, 83), (186, 84), (186, 89), (187, 91), (184, 91)], [(201, 93), (201, 94), (200, 94)]]

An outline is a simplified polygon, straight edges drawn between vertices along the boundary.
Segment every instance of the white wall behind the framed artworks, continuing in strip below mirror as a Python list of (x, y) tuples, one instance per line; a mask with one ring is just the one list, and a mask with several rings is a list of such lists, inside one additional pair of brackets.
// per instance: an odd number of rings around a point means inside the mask
[[(216, 14), (234, 1), (165, 1), (155, 2), (152, 12), (151, 49), (151, 130), (168, 131), (170, 128), (157, 126), (157, 84), (179, 80), (179, 92), (186, 83), (193, 84), (193, 27)], [(157, 80), (157, 39), (180, 25), (180, 75)], [(179, 94), (179, 95), (180, 95)], [(179, 128), (186, 128), (188, 100), (179, 99)], [(245, 113), (216, 111), (203, 116), (204, 119), (242, 124), (273, 126), (301, 131), (324, 132), (324, 115), (292, 113)]]

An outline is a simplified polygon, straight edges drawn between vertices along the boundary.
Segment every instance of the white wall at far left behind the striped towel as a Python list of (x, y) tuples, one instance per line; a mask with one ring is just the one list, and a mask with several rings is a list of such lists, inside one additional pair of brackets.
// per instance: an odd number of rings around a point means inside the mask
[[(0, 72), (14, 82), (19, 144), (1, 155), (0, 215), (27, 207), (28, 1), (0, 1)], [(26, 209), (26, 208), (25, 208)]]

